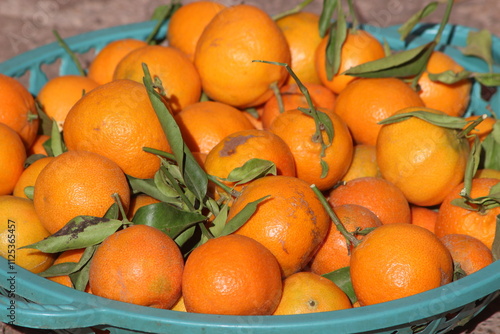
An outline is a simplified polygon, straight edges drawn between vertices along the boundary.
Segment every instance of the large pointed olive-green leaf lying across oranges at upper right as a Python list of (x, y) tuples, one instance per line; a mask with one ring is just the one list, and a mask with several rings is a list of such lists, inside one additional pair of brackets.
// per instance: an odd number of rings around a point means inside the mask
[(413, 49), (393, 53), (390, 56), (351, 67), (343, 74), (362, 78), (413, 77), (426, 69), (435, 46), (435, 42), (429, 42)]

